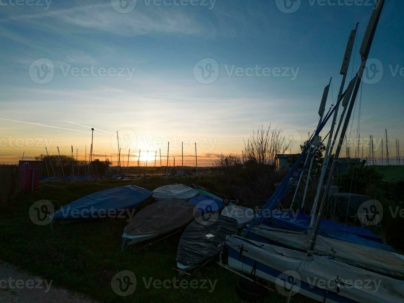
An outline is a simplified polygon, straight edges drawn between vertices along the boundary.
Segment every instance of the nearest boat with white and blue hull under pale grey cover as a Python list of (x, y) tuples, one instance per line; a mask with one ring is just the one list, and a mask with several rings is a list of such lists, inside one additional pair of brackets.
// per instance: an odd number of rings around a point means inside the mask
[(274, 282), (284, 295), (320, 302), (403, 302), (404, 282), (343, 262), (238, 236), (227, 236), (233, 270)]

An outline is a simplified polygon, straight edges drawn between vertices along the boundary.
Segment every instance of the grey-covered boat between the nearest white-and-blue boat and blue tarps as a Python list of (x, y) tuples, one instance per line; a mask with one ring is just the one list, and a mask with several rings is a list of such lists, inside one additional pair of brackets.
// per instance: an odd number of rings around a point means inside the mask
[[(253, 227), (248, 238), (264, 243), (275, 243), (276, 245), (302, 252), (307, 252), (308, 244), (311, 240), (311, 236), (307, 234), (263, 226)], [(378, 274), (404, 280), (404, 256), (394, 252), (318, 235), (313, 253)]]

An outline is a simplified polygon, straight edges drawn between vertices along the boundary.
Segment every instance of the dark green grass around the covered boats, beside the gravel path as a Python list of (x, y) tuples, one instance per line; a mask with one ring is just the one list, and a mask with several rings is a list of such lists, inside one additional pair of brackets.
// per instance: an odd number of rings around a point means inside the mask
[[(217, 259), (210, 262), (192, 276), (179, 276), (173, 270), (180, 234), (160, 241), (152, 246), (136, 250), (141, 244), (130, 246), (121, 253), (121, 235), (128, 224), (126, 218), (108, 218), (81, 221), (72, 224), (49, 226), (34, 224), (28, 214), (29, 207), (38, 200), (50, 200), (55, 210), (88, 194), (122, 185), (137, 185), (149, 190), (173, 183), (198, 183), (215, 188), (215, 177), (160, 178), (96, 182), (48, 182), (40, 183), (38, 191), (21, 192), (15, 200), (2, 207), (0, 213), (0, 259), (21, 267), (21, 269), (53, 280), (53, 286), (81, 292), (103, 302), (229, 302), (241, 301), (236, 293), (238, 276), (219, 267)], [(143, 203), (150, 204), (151, 199)], [(139, 209), (137, 209), (139, 211)], [(119, 271), (133, 271), (137, 277), (137, 288), (133, 295), (120, 297), (111, 287), (111, 280)], [(149, 288), (145, 286), (154, 280), (211, 280), (215, 283), (206, 289)], [(173, 286), (173, 283), (166, 284)], [(285, 297), (269, 292), (266, 302), (283, 302)]]

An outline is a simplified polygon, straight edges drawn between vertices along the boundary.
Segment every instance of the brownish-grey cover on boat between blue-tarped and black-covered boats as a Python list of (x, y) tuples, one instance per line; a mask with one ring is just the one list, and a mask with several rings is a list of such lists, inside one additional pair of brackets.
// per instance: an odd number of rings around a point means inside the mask
[(193, 214), (194, 205), (183, 200), (158, 201), (140, 210), (125, 227), (125, 234), (164, 234), (187, 224)]

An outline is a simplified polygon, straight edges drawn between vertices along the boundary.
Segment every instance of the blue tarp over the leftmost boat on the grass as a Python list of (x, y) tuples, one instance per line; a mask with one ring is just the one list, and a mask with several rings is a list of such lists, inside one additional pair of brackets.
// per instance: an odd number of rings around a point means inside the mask
[(67, 204), (50, 216), (60, 220), (116, 216), (119, 214), (118, 210), (135, 208), (152, 194), (151, 191), (135, 185), (105, 189)]

